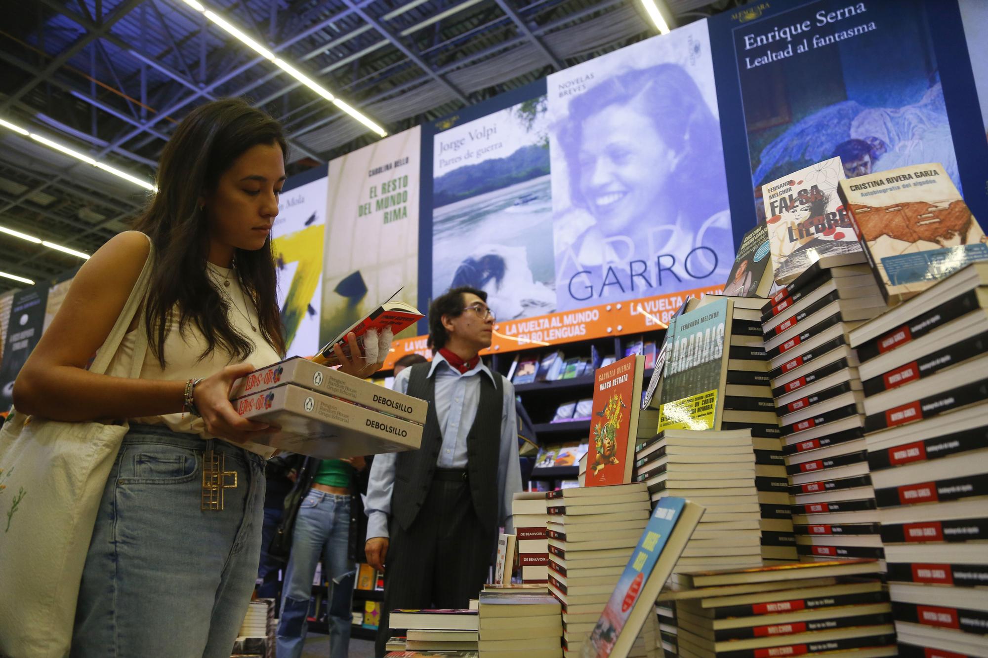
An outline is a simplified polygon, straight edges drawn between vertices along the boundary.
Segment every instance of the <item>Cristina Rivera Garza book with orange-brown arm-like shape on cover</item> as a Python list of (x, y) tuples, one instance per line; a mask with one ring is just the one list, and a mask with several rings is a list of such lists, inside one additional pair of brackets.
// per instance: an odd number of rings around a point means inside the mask
[(939, 163), (841, 181), (839, 194), (890, 305), (988, 258), (984, 231)]

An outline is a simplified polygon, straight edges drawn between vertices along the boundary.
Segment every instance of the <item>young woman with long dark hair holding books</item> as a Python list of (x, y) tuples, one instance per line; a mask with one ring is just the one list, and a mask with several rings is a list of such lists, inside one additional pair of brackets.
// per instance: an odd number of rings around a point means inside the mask
[[(285, 351), (270, 232), (286, 151), (282, 126), (243, 101), (190, 113), (137, 230), (86, 262), (17, 379), (19, 414), (129, 420), (88, 546), (73, 656), (230, 655), (274, 451), (258, 441), (268, 427), (228, 394)], [(150, 283), (121, 347), (105, 374), (88, 371), (145, 262)], [(369, 375), (349, 338), (342, 370)]]

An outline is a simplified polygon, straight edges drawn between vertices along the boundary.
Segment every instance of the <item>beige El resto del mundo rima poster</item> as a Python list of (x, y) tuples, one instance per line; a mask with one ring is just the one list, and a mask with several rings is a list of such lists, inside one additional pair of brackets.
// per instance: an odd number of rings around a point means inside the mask
[(398, 288), (418, 304), (420, 141), (416, 126), (329, 163), (322, 343)]

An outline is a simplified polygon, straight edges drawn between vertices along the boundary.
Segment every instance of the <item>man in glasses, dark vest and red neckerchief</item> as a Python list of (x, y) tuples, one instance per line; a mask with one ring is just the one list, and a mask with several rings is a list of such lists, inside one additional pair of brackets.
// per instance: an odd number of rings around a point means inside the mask
[(432, 363), (402, 370), (394, 389), (428, 400), (418, 451), (378, 454), (371, 467), (365, 552), (386, 571), (376, 655), (399, 609), (462, 609), (487, 579), (498, 528), (511, 532), (522, 490), (515, 387), (483, 365), (494, 313), (487, 293), (453, 288), (429, 307)]

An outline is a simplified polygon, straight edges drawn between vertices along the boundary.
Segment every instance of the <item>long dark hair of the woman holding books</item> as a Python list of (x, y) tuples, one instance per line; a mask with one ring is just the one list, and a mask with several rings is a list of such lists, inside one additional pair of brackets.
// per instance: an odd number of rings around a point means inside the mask
[[(240, 99), (222, 99), (192, 111), (161, 153), (158, 193), (134, 228), (150, 236), (155, 247), (144, 317), (148, 345), (162, 368), (169, 319), (178, 320), (183, 335), (199, 329), (206, 339), (201, 359), (219, 348), (243, 361), (254, 349), (230, 325), (229, 303), (206, 274), (209, 228), (198, 200), (216, 188), (234, 160), (258, 144), (278, 144), (288, 153), (280, 123)], [(236, 275), (257, 308), (262, 336), (284, 355), (271, 238), (257, 251), (237, 249), (235, 260)]]

